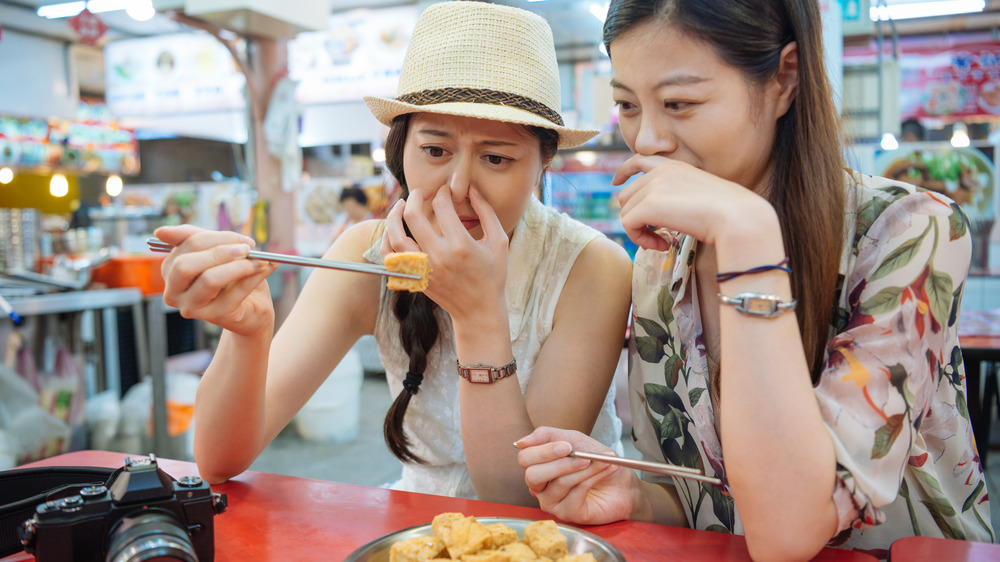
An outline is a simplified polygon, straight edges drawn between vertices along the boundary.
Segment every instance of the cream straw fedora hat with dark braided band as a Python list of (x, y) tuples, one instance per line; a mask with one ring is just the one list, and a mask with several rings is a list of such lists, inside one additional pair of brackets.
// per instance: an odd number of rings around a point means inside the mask
[(549, 24), (527, 10), (484, 2), (441, 2), (424, 10), (396, 98), (364, 100), (384, 125), (418, 112), (492, 119), (557, 131), (560, 148), (599, 132), (563, 125)]

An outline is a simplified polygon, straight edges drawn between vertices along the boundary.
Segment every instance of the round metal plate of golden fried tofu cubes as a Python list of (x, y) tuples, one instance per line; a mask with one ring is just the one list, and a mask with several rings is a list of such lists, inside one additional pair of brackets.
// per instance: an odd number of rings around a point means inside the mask
[(427, 525), (389, 533), (347, 562), (625, 562), (605, 539), (553, 520), (447, 512)]

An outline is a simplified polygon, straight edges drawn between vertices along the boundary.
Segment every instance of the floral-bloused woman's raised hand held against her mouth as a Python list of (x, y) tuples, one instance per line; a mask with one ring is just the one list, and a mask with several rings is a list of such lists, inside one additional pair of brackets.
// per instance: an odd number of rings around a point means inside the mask
[(770, 207), (737, 183), (662, 156), (632, 156), (618, 168), (611, 183), (621, 185), (637, 174), (642, 175), (619, 192), (618, 201), (626, 234), (643, 248), (668, 249), (655, 232), (659, 228), (714, 245), (723, 229), (738, 228), (734, 222), (752, 217), (762, 204)]

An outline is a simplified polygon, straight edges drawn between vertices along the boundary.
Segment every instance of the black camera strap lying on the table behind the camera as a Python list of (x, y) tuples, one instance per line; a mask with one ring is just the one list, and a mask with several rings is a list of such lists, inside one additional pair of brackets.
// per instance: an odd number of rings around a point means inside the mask
[(35, 507), (69, 495), (86, 484), (107, 484), (120, 469), (80, 466), (15, 468), (0, 471), (0, 558), (24, 550), (17, 530)]

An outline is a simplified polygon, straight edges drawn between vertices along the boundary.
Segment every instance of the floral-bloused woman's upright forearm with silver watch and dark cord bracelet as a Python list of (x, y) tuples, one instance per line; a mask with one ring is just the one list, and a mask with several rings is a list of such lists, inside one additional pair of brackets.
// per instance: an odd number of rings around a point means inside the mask
[[(753, 208), (730, 207), (733, 216), (720, 221), (720, 271), (784, 259), (777, 216), (765, 200), (756, 201)], [(782, 271), (737, 277), (720, 284), (719, 292), (792, 298)], [(754, 558), (811, 558), (837, 531), (836, 455), (813, 394), (798, 322), (791, 311), (757, 318), (718, 306), (722, 450), (747, 546)]]

